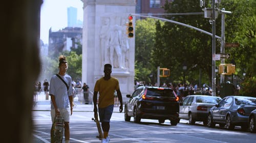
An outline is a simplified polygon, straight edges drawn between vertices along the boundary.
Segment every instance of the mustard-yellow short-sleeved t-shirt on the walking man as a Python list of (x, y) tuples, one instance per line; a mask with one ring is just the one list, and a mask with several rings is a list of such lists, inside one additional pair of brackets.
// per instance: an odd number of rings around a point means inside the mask
[(96, 81), (94, 91), (99, 92), (99, 108), (114, 105), (115, 90), (119, 90), (117, 78), (111, 77), (109, 80), (104, 80), (104, 78), (101, 77)]

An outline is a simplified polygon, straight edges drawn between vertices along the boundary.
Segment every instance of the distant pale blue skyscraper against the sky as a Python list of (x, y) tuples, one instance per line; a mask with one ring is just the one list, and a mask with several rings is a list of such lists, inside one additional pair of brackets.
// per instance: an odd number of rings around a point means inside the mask
[(77, 26), (77, 8), (68, 8), (68, 27)]

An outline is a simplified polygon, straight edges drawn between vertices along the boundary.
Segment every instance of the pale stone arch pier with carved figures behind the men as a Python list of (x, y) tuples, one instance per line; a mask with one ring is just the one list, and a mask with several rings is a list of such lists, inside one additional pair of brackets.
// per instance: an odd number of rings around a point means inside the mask
[(134, 91), (135, 39), (127, 37), (125, 24), (135, 7), (135, 0), (83, 0), (82, 82), (90, 91), (106, 63), (119, 79), (123, 100)]

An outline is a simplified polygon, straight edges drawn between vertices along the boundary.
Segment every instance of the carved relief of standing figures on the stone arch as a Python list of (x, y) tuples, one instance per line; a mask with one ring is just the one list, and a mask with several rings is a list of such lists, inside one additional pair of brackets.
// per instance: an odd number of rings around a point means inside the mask
[(114, 68), (129, 68), (129, 42), (126, 35), (126, 20), (122, 18), (118, 24), (115, 22), (116, 24), (111, 26), (110, 17), (102, 19), (99, 34), (101, 62), (103, 64), (110, 63)]

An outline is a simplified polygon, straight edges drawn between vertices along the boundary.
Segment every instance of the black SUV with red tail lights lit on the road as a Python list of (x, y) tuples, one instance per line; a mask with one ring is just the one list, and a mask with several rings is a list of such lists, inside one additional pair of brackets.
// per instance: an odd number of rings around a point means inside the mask
[(159, 123), (170, 120), (176, 126), (179, 122), (179, 103), (175, 92), (170, 88), (138, 87), (124, 106), (124, 120), (134, 117), (135, 123), (141, 119), (154, 119)]

